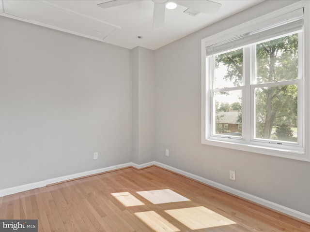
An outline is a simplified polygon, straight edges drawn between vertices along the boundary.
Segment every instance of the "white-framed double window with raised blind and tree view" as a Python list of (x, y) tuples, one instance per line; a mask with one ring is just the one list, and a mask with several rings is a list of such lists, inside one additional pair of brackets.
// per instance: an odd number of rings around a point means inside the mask
[(203, 41), (202, 143), (310, 161), (303, 10)]

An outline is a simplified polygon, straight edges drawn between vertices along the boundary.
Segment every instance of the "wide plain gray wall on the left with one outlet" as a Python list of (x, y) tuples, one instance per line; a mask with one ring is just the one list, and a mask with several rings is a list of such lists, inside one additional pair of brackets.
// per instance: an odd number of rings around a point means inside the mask
[(131, 161), (130, 50), (0, 28), (0, 189)]

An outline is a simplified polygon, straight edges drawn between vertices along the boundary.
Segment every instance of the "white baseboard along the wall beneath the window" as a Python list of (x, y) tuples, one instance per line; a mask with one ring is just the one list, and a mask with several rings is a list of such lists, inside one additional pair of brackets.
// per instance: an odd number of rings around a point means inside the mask
[(163, 164), (163, 163), (160, 163), (160, 162), (156, 162), (155, 161), (154, 165), (158, 166), (158, 167), (162, 167), (162, 168), (167, 169), (167, 170), (170, 170), (170, 171), (172, 171), (174, 173), (178, 173), (178, 174), (187, 176), (187, 177), (189, 177), (191, 179), (197, 180), (199, 182), (202, 182), (202, 183), (204, 183), (206, 185), (209, 185), (209, 186), (212, 186), (214, 188), (218, 188), (218, 189), (223, 190), (225, 192), (229, 192), (229, 193), (231, 193), (233, 195), (236, 195), (238, 197), (247, 199), (247, 200), (249, 200), (251, 202), (261, 204), (261, 205), (266, 206), (266, 207), (268, 207), (270, 209), (274, 209), (276, 211), (279, 211), (279, 212), (281, 212), (283, 214), (287, 214), (289, 216), (296, 217), (298, 219), (310, 222), (310, 215), (308, 215), (308, 214), (299, 212), (297, 210), (285, 207), (283, 205), (280, 205), (280, 204), (277, 204), (277, 203), (274, 203), (274, 202), (267, 201), (265, 199), (262, 199), (262, 198), (259, 198), (257, 196), (248, 194), (246, 192), (243, 192), (243, 191), (240, 191), (240, 190), (228, 187), (226, 185), (219, 184), (219, 183), (217, 183), (215, 181), (208, 180), (208, 179), (203, 178), (201, 176), (198, 176), (198, 175), (195, 175), (195, 174), (191, 174), (191, 173), (187, 173), (185, 171), (182, 171), (180, 169), (171, 167), (169, 165), (166, 165), (166, 164)]

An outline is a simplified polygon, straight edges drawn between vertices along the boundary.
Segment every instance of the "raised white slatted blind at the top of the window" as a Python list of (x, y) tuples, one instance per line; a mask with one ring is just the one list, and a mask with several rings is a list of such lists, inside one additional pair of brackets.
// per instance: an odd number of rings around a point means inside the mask
[[(286, 15), (282, 15), (286, 16)], [(279, 22), (276, 25), (264, 29), (257, 29), (238, 37), (232, 38), (222, 43), (216, 43), (206, 47), (206, 56), (233, 50), (252, 43), (261, 42), (277, 36), (300, 32), (303, 29), (303, 8), (295, 10), (287, 14), (290, 18)]]

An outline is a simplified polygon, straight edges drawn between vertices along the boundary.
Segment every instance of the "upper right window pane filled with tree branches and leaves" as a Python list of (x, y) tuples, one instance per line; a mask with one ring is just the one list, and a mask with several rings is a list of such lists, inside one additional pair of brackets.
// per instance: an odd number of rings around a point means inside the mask
[(256, 83), (298, 79), (298, 34), (256, 45)]

